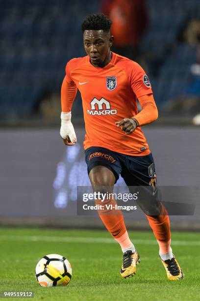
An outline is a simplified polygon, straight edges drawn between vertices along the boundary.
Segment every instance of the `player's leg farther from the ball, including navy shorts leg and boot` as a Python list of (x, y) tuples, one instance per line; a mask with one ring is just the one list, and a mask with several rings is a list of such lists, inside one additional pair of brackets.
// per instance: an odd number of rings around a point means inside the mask
[(128, 156), (128, 170), (123, 170), (122, 176), (128, 186), (141, 186), (142, 197), (138, 198), (137, 203), (145, 212), (158, 242), (159, 255), (167, 271), (168, 279), (183, 278), (183, 273), (171, 248), (169, 215), (157, 197), (157, 180), (152, 155)]

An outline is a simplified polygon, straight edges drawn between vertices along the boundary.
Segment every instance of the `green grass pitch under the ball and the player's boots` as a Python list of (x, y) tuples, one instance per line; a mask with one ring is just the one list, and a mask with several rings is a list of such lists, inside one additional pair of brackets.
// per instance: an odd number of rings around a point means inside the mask
[[(185, 275), (181, 281), (167, 280), (151, 232), (130, 231), (129, 236), (141, 262), (134, 277), (123, 279), (122, 251), (106, 230), (1, 228), (0, 291), (33, 291), (34, 301), (200, 300), (200, 233), (172, 233), (173, 251)], [(70, 261), (68, 286), (37, 284), (35, 266), (50, 253)]]

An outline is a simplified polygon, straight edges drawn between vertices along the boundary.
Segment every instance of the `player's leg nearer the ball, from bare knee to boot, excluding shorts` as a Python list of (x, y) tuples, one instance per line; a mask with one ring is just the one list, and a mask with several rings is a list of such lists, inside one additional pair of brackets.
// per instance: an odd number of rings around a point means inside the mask
[[(94, 167), (90, 173), (89, 178), (94, 192), (100, 193), (113, 193), (115, 183), (115, 176), (111, 170), (104, 166)], [(111, 205), (110, 208), (115, 208), (116, 201), (113, 198), (104, 200), (97, 200), (96, 204)], [(99, 216), (110, 232), (115, 241), (121, 245), (124, 257), (121, 267), (122, 277), (130, 277), (136, 272), (136, 264), (139, 262), (139, 255), (135, 250), (133, 243), (128, 237), (126, 231), (123, 214), (120, 210), (116, 209), (102, 209), (98, 210)]]

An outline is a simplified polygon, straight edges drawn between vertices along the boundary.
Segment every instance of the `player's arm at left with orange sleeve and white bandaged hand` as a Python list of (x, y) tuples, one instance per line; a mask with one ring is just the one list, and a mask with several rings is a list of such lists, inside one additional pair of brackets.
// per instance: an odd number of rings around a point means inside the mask
[(66, 76), (63, 80), (61, 87), (61, 127), (60, 135), (63, 138), (65, 145), (72, 146), (75, 145), (77, 139), (75, 135), (74, 126), (71, 122), (71, 109), (75, 96), (77, 93), (77, 87), (72, 81), (70, 76), (69, 63), (66, 66)]

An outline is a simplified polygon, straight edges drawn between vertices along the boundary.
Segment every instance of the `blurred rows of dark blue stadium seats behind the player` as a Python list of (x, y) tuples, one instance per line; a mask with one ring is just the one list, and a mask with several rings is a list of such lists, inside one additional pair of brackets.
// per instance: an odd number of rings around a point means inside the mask
[[(31, 114), (44, 90), (60, 90), (66, 62), (85, 55), (82, 19), (99, 5), (99, 0), (0, 1), (2, 118), (11, 111), (12, 116)], [(179, 44), (176, 36), (188, 17), (200, 13), (200, 5), (199, 0), (182, 0), (181, 5), (179, 0), (147, 0), (147, 5), (150, 27), (141, 52), (148, 56), (150, 80), (162, 107), (189, 85), (196, 47)]]

